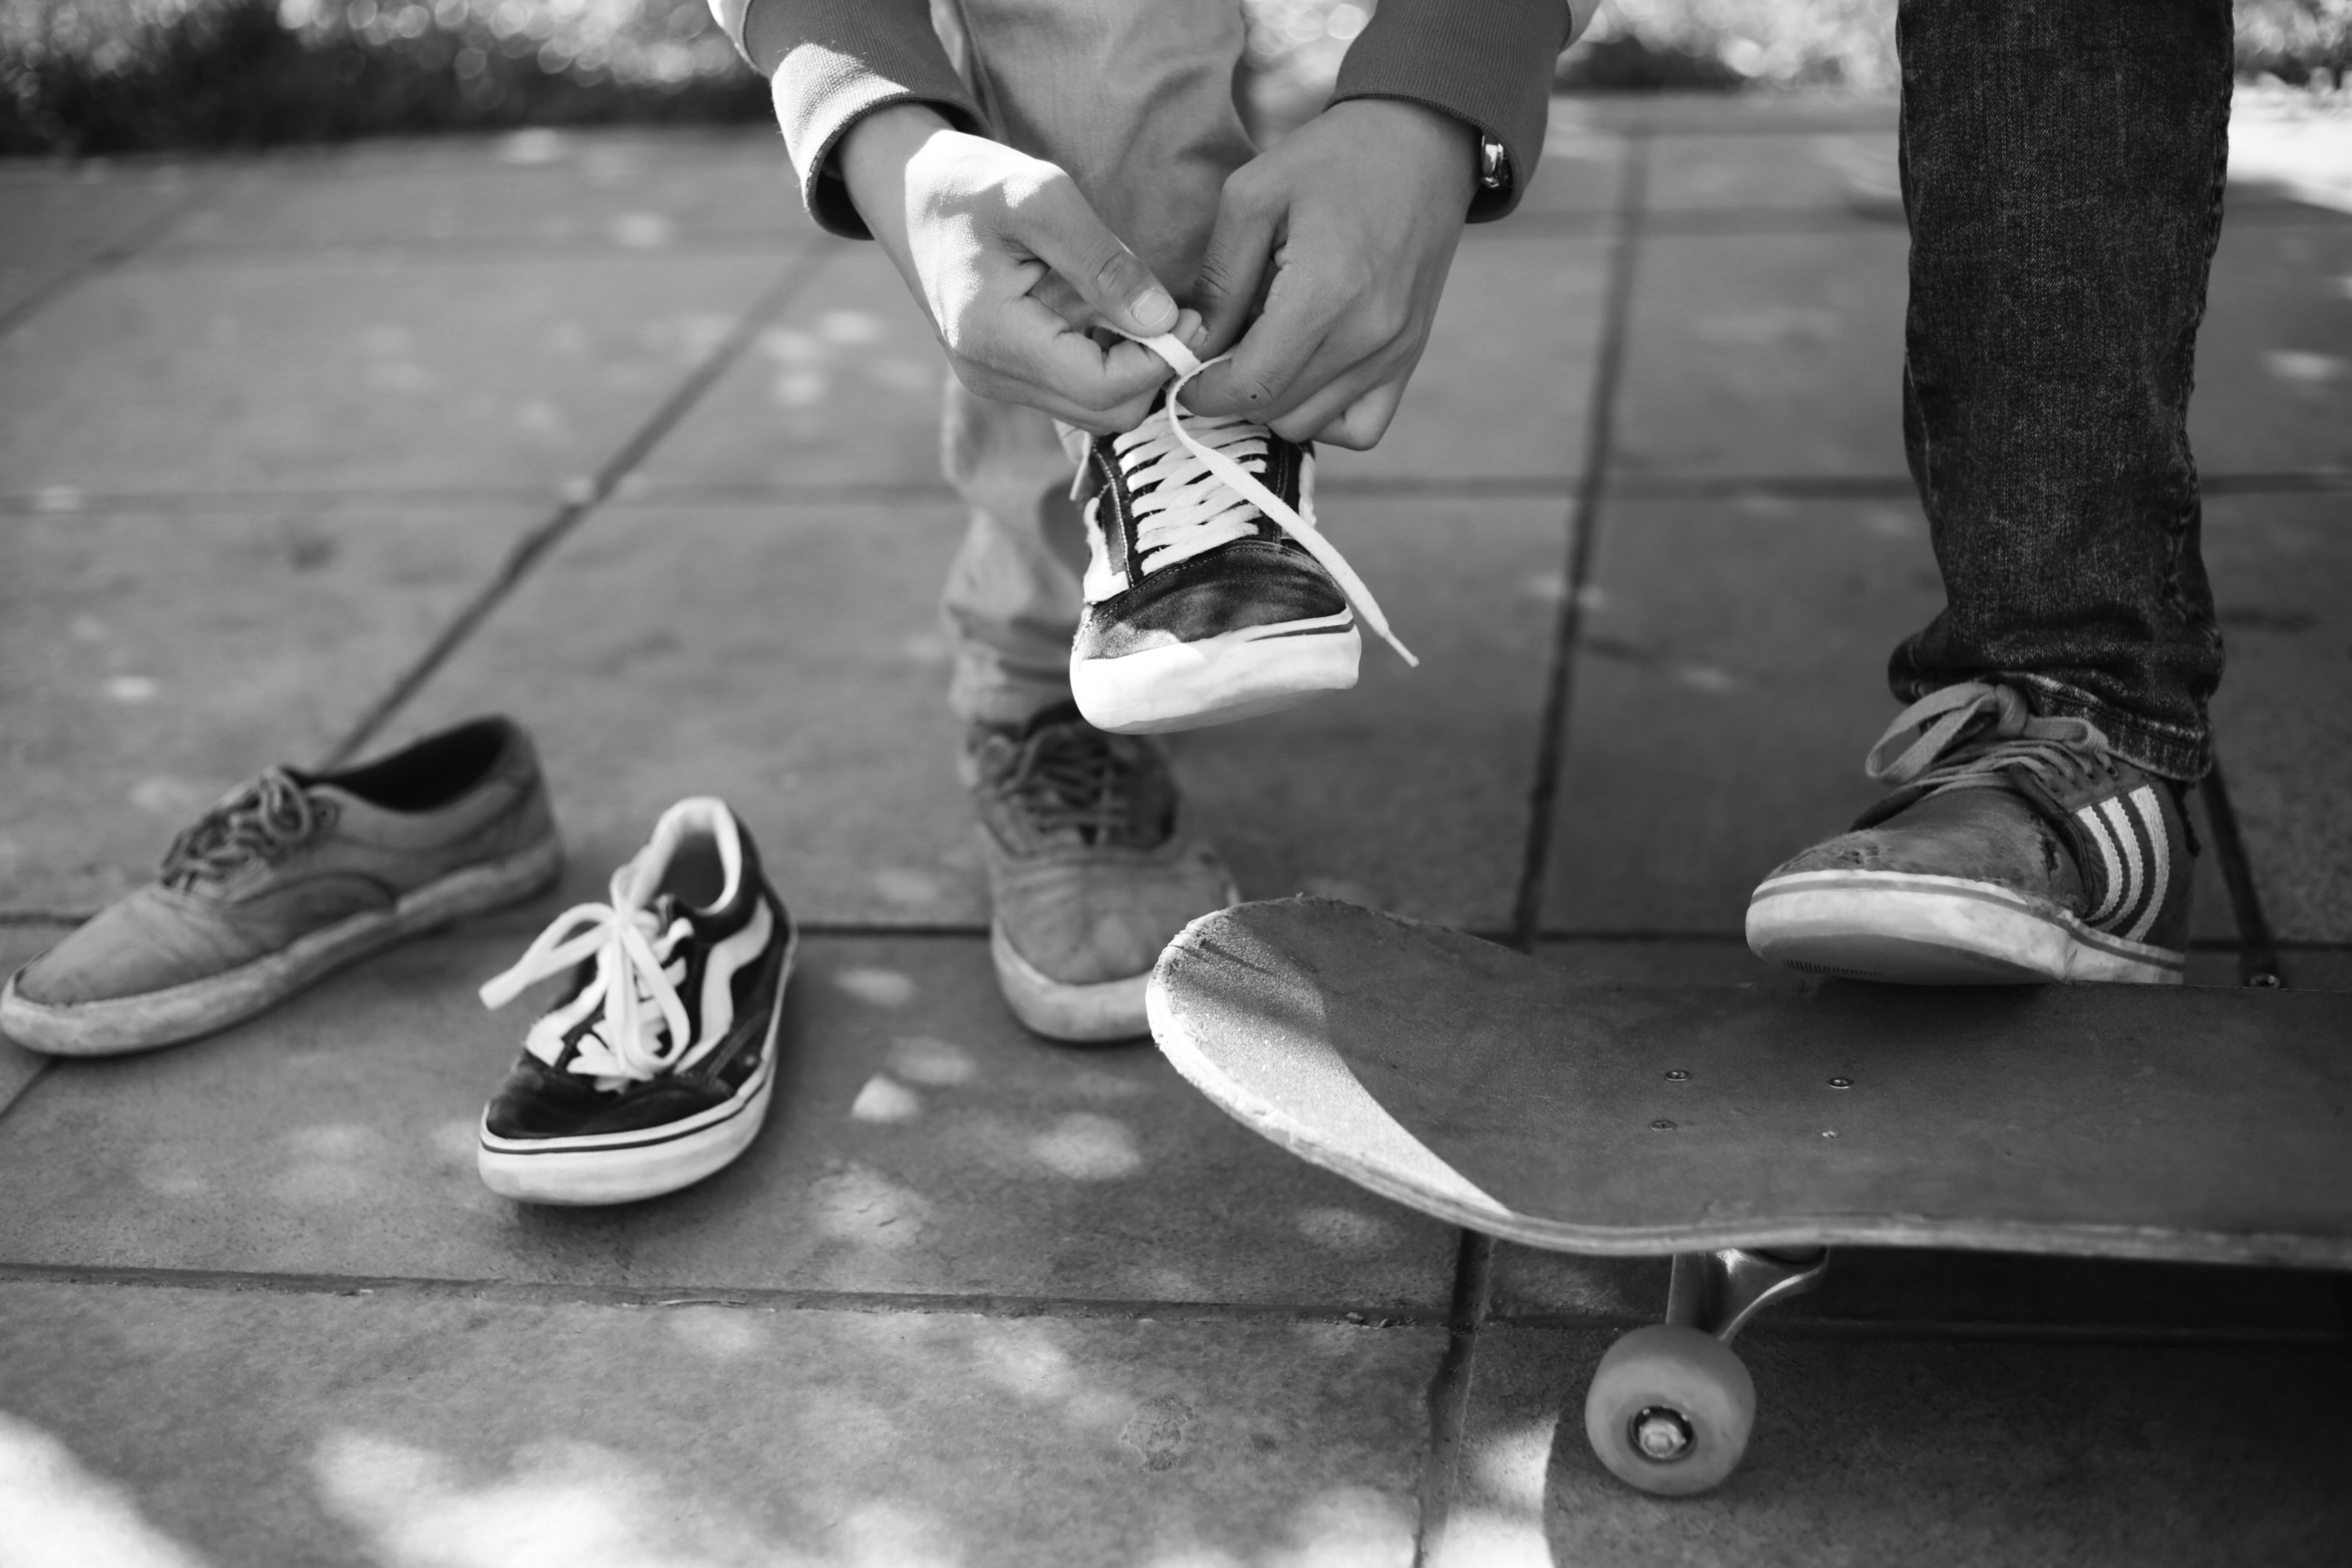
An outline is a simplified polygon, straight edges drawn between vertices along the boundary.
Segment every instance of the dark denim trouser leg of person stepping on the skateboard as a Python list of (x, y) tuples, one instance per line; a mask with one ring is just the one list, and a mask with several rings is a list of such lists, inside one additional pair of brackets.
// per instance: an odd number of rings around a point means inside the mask
[(1889, 679), (2006, 679), (2197, 778), (2220, 630), (2187, 404), (2230, 0), (1903, 0), (1896, 38), (1903, 440), (1945, 611)]

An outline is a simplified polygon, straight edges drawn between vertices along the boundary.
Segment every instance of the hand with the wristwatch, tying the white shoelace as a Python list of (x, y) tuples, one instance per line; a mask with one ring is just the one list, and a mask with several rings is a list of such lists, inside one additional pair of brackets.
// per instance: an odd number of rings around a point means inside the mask
[(1402, 99), (1334, 103), (1235, 169), (1195, 289), (1207, 350), (1232, 360), (1183, 404), (1294, 442), (1378, 442), (1430, 341), (1475, 186), (1477, 132)]

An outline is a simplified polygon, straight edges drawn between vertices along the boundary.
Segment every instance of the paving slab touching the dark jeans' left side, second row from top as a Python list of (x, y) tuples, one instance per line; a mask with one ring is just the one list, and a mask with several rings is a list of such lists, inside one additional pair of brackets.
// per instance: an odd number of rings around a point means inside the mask
[(1900, 480), (1907, 247), (1889, 226), (1646, 235), (1618, 468)]

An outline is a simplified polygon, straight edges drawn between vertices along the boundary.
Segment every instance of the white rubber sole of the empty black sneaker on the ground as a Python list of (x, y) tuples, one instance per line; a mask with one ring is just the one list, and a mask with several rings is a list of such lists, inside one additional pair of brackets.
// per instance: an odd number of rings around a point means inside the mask
[[(760, 1138), (776, 1091), (776, 1032), (783, 992), (793, 980), (800, 938), (788, 938), (776, 999), (767, 1011), (767, 1051), (760, 1072), (727, 1105), (673, 1126), (647, 1126), (595, 1138), (499, 1138), (485, 1119), (475, 1168), (482, 1185), (522, 1204), (637, 1204), (717, 1175)], [(485, 1112), (487, 1117), (487, 1112)]]

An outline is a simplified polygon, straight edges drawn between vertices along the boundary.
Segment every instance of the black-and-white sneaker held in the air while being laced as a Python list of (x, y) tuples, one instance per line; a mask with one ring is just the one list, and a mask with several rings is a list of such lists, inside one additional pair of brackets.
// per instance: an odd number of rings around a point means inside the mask
[[(1096, 729), (1228, 724), (1355, 684), (1357, 616), (1397, 642), (1371, 590), (1315, 527), (1315, 451), (1247, 418), (1181, 414), (1183, 371), (1150, 418), (1094, 440), (1084, 611), (1070, 691)], [(1080, 475), (1084, 482), (1087, 475)]]

